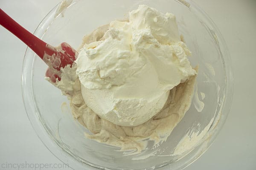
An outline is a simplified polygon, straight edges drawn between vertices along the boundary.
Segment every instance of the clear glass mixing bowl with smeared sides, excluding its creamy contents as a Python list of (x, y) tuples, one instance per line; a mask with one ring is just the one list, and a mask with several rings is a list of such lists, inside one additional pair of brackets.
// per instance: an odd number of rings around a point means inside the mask
[[(53, 8), (35, 35), (51, 45), (68, 42), (78, 48), (84, 35), (127, 18), (139, 4), (176, 15), (180, 34), (192, 51), (189, 59), (199, 65), (198, 90), (189, 111), (166, 142), (154, 147), (149, 142), (140, 154), (130, 156), (87, 139), (87, 129), (73, 119), (67, 97), (44, 80), (47, 65), (26, 50), (22, 90), (27, 115), (45, 146), (73, 169), (183, 169), (207, 150), (227, 118), (233, 94), (229, 52), (218, 28), (190, 0), (73, 0), (62, 14), (56, 14), (58, 6)], [(204, 108), (199, 112), (201, 102)]]

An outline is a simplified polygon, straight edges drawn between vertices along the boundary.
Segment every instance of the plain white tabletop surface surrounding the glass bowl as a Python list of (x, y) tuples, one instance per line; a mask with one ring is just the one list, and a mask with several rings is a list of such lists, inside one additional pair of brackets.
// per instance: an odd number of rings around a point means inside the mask
[[(0, 8), (33, 32), (58, 2), (59, 0), (0, 0)], [(195, 2), (209, 14), (227, 42), (233, 61), (234, 95), (226, 124), (215, 142), (186, 170), (255, 170), (256, 71), (253, 67), (256, 64), (256, 0)], [(20, 88), (25, 50), (26, 45), (0, 27), (0, 165), (25, 162), (61, 164), (38, 139), (26, 116)], [(0, 166), (0, 169), (18, 168)]]

